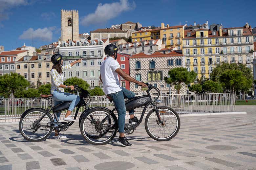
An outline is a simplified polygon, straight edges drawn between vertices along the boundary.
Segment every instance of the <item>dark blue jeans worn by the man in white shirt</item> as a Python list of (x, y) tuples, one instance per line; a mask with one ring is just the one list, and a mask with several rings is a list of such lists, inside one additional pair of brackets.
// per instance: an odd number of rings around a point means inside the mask
[[(135, 94), (132, 91), (127, 90), (126, 88), (122, 87), (121, 91), (116, 93), (108, 94), (107, 96), (111, 97), (118, 113), (118, 130), (120, 133), (124, 132), (124, 124), (125, 124), (125, 115), (126, 115), (126, 108), (124, 99), (133, 99), (135, 98)], [(134, 109), (129, 110), (129, 114), (134, 114)]]

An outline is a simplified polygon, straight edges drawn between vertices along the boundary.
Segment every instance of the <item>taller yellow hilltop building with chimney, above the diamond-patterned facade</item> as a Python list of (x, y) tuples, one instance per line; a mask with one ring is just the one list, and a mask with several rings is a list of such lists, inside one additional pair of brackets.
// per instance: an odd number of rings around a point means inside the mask
[(177, 47), (177, 50), (181, 50), (184, 26), (186, 25), (169, 26), (167, 24), (165, 26), (164, 23), (161, 23), (160, 39), (162, 43), (166, 47)]

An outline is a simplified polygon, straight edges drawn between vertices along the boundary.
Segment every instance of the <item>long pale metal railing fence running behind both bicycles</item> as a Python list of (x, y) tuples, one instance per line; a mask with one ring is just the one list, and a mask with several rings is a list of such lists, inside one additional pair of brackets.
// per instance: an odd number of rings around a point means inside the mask
[[(156, 97), (152, 95), (153, 99)], [(178, 114), (221, 113), (235, 111), (236, 95), (235, 93), (160, 95), (160, 100), (162, 101), (160, 105), (169, 106)], [(53, 104), (53, 100), (50, 101)], [(89, 107), (101, 106), (113, 109), (112, 104), (106, 96), (94, 96), (91, 97), (88, 105)], [(46, 99), (42, 98), (15, 98), (14, 101), (0, 99), (0, 123), (17, 122), (24, 111), (33, 107), (49, 109), (50, 105)], [(151, 109), (152, 107), (149, 106), (146, 113)], [(142, 110), (143, 107), (135, 109), (135, 114), (140, 115)], [(79, 114), (83, 111), (84, 108), (80, 108)], [(65, 113), (64, 111), (62, 114)], [(75, 111), (72, 114), (74, 113)]]

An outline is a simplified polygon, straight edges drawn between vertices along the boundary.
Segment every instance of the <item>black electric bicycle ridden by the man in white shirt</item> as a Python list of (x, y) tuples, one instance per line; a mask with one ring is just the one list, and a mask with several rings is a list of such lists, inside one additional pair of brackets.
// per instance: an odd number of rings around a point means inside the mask
[[(126, 111), (144, 106), (139, 122), (135, 125), (125, 124), (125, 133), (133, 133), (141, 123), (148, 106), (153, 107), (146, 116), (145, 129), (148, 135), (157, 141), (168, 141), (175, 137), (180, 130), (180, 117), (172, 108), (157, 106), (161, 100), (160, 90), (146, 83), (147, 95), (138, 96), (125, 101)], [(158, 97), (152, 99), (150, 91), (155, 89)], [(117, 116), (106, 107), (94, 107), (85, 112), (80, 123), (80, 131), (84, 139), (93, 145), (104, 145), (113, 140), (118, 130)]]

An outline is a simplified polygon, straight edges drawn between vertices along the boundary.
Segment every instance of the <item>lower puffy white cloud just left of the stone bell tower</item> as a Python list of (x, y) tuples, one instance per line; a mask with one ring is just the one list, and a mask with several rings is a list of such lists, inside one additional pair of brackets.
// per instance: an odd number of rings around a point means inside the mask
[(29, 28), (20, 35), (19, 39), (39, 39), (43, 41), (52, 41), (53, 30), (55, 29), (55, 27), (38, 28), (36, 30)]

